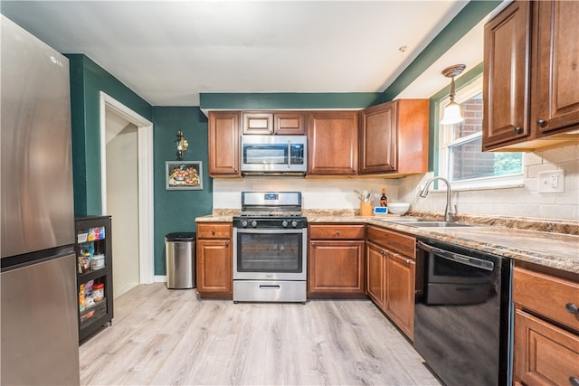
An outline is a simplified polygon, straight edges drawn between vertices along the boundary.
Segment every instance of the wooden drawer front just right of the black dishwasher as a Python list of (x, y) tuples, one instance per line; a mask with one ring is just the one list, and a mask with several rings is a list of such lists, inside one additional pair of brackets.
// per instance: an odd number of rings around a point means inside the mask
[(515, 268), (513, 301), (579, 331), (579, 315), (567, 308), (579, 306), (579, 284), (525, 268)]

